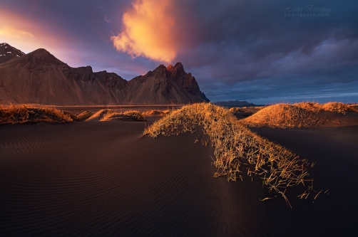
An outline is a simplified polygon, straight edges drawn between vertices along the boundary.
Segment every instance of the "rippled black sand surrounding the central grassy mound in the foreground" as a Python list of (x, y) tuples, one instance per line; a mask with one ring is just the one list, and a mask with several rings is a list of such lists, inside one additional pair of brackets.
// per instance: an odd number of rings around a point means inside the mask
[[(148, 125), (148, 122), (146, 123)], [(358, 126), (253, 128), (317, 164), (312, 200), (213, 178), (213, 149), (145, 122), (0, 127), (0, 236), (352, 236)]]

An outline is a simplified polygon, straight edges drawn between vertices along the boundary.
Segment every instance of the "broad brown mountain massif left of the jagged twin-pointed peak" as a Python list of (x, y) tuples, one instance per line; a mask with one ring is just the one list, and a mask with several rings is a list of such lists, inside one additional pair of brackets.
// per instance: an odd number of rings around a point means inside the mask
[(71, 68), (45, 49), (0, 64), (1, 102), (114, 105), (126, 86), (118, 75), (93, 73), (90, 66)]

